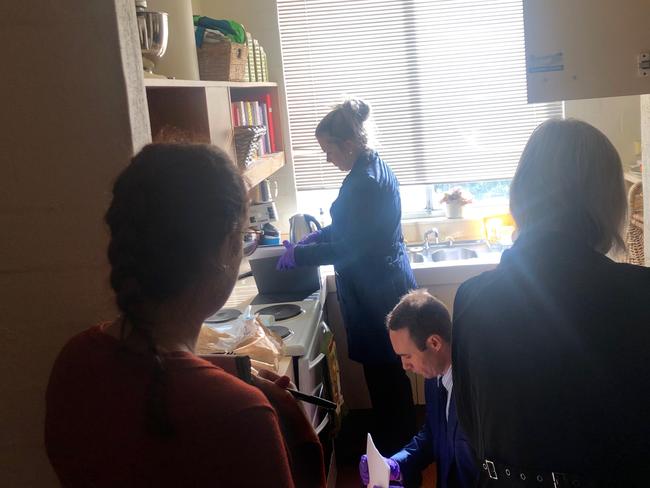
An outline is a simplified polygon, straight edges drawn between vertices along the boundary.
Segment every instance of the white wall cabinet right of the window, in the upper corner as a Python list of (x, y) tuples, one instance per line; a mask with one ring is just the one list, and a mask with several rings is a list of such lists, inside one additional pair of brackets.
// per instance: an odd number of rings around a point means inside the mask
[(648, 0), (524, 0), (528, 101), (650, 93)]

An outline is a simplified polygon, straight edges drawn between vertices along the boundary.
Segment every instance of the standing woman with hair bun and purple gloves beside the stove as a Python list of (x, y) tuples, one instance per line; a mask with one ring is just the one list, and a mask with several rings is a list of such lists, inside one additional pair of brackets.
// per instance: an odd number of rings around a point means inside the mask
[(348, 354), (363, 365), (378, 448), (397, 452), (415, 432), (411, 384), (393, 352), (385, 318), (416, 287), (401, 228), (399, 183), (368, 142), (370, 107), (349, 99), (316, 127), (327, 160), (347, 172), (332, 204), (332, 224), (287, 250), (280, 268), (333, 264)]

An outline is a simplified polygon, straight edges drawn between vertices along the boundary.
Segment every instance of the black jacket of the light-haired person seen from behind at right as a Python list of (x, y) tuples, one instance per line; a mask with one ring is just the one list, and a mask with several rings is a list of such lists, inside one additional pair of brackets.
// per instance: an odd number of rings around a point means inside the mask
[(650, 486), (649, 351), (650, 269), (523, 234), (456, 295), (458, 417), (481, 461)]

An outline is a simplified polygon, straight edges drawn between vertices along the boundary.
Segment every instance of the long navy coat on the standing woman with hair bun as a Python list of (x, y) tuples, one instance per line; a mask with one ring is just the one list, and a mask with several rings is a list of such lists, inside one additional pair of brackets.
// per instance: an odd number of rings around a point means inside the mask
[(376, 152), (359, 156), (330, 214), (320, 242), (296, 248), (296, 262), (334, 265), (351, 359), (399, 361), (384, 321), (416, 283), (404, 249), (399, 183)]

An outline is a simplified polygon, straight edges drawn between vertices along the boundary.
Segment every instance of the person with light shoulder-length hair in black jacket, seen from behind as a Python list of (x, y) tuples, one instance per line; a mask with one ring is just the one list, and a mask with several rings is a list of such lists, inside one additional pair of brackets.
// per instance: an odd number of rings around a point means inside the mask
[(647, 486), (650, 270), (623, 246), (620, 158), (578, 120), (530, 137), (510, 189), (519, 237), (454, 304), (458, 417), (480, 486)]

